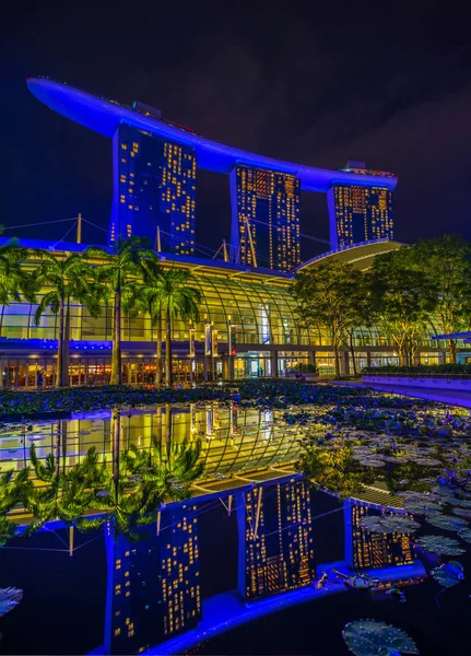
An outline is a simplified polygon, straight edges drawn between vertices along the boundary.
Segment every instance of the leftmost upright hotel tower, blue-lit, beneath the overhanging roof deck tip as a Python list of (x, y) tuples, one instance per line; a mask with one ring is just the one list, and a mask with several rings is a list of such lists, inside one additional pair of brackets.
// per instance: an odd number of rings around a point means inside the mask
[(114, 197), (109, 242), (148, 237), (177, 255), (195, 249), (196, 175), (193, 149), (120, 124), (113, 138)]

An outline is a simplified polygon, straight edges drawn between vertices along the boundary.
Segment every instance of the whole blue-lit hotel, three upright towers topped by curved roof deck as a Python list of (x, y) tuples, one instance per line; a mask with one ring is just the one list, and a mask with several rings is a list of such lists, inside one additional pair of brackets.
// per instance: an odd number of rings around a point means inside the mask
[[(156, 225), (162, 220), (162, 225), (168, 229), (165, 232), (170, 235), (170, 237), (167, 235), (169, 243), (166, 247), (180, 255), (192, 253), (196, 160), (201, 168), (232, 176), (232, 246), (233, 253), (238, 254), (238, 261), (242, 263), (282, 271), (291, 270), (299, 263), (301, 191), (328, 195), (332, 248), (368, 239), (392, 238), (392, 191), (397, 178), (391, 174), (367, 171), (358, 165), (348, 166), (341, 171), (329, 171), (283, 162), (205, 139), (188, 128), (162, 119), (158, 112), (146, 105), (136, 103), (130, 107), (44, 78), (31, 78), (27, 85), (39, 101), (55, 112), (115, 139), (118, 145), (119, 133), (125, 129), (121, 126), (127, 126), (128, 130), (132, 129), (137, 136), (141, 136), (129, 143), (140, 144), (138, 152), (142, 154), (143, 151), (139, 149), (145, 148), (151, 152), (151, 159), (148, 160), (152, 168), (151, 189), (154, 190), (157, 199), (160, 190), (163, 206), (155, 210), (155, 196), (152, 190), (139, 186), (148, 179), (144, 175), (145, 159), (140, 160), (139, 180), (137, 177), (134, 189), (132, 185), (128, 185), (128, 176), (130, 177), (132, 167), (128, 166), (129, 162), (122, 162), (122, 175), (126, 181), (121, 181), (121, 171), (116, 166), (110, 238), (116, 238), (118, 232), (123, 236), (130, 232), (149, 235), (154, 241)], [(117, 133), (118, 137), (115, 138)], [(126, 137), (123, 143), (128, 143), (130, 138), (130, 134)], [(174, 175), (175, 167), (168, 162), (168, 151), (165, 153), (164, 144), (172, 144), (173, 149), (179, 149), (177, 161), (181, 163), (181, 174)], [(115, 148), (115, 162), (116, 150)], [(172, 172), (169, 177), (165, 176), (165, 183), (163, 177), (160, 177), (158, 166), (162, 166), (162, 175), (164, 171)], [(184, 171), (187, 172), (187, 176)], [(188, 172), (191, 174), (190, 178)], [(248, 188), (252, 184), (250, 180), (255, 180), (255, 190)], [(178, 184), (180, 184), (179, 192), (177, 192)], [(136, 191), (138, 187), (143, 190)], [(125, 196), (123, 203), (121, 203), (121, 196)], [(173, 196), (175, 196), (175, 208), (172, 208)], [(134, 209), (136, 203), (138, 210)], [(169, 209), (166, 203), (170, 203)], [(125, 207), (120, 208), (120, 204)], [(138, 221), (137, 212), (143, 212), (144, 209), (144, 215), (141, 213)], [(162, 212), (173, 216), (169, 225), (162, 219)], [(148, 221), (151, 225), (144, 226)], [(184, 238), (179, 238), (181, 230), (184, 230)], [(254, 241), (250, 254), (247, 243), (249, 232)], [(257, 255), (260, 262), (257, 260)]]

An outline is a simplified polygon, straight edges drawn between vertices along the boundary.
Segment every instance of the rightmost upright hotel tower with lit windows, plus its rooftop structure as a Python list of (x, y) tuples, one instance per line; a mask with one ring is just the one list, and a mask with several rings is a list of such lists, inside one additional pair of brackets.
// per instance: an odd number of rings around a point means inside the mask
[[(385, 172), (367, 171), (361, 162), (349, 162), (342, 171), (393, 177)], [(392, 191), (386, 186), (333, 183), (328, 191), (328, 206), (332, 248), (393, 238)]]

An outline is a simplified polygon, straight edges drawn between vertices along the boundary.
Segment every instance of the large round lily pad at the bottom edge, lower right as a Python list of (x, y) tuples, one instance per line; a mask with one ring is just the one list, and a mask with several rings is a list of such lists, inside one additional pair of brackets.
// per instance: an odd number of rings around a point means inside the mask
[(374, 620), (349, 622), (342, 631), (342, 637), (355, 656), (419, 654), (412, 637), (386, 622)]

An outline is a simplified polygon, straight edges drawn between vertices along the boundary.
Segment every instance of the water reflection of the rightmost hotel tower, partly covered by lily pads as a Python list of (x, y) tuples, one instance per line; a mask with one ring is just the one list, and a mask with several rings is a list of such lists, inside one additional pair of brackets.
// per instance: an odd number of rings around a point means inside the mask
[(344, 511), (345, 560), (353, 569), (398, 566), (413, 562), (409, 536), (398, 532), (373, 534), (360, 526), (362, 517), (380, 515), (379, 509), (372, 508), (367, 504), (360, 505), (346, 501)]

